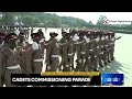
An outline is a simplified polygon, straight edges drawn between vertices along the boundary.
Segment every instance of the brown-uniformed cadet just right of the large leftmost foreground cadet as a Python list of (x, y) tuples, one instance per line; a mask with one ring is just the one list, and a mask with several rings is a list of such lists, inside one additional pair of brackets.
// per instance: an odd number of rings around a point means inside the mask
[(24, 33), (20, 32), (18, 42), (18, 51), (20, 52), (20, 66), (22, 74), (32, 74), (32, 41), (24, 40)]

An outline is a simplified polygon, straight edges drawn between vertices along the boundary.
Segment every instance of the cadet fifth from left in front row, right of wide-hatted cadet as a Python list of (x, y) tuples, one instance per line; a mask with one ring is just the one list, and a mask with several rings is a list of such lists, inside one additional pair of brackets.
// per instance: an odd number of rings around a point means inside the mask
[(72, 65), (74, 64), (73, 58), (73, 38), (70, 38), (70, 33), (65, 32), (64, 36), (59, 41), (59, 52), (62, 61), (59, 68), (63, 66), (63, 72), (70, 72)]

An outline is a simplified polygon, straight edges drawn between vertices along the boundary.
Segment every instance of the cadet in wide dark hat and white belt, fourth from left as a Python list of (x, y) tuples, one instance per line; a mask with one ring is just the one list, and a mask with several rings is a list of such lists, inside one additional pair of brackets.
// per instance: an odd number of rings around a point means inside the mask
[(57, 33), (51, 32), (50, 36), (51, 38), (47, 42), (46, 45), (46, 72), (56, 72), (59, 64), (58, 58), (58, 38)]

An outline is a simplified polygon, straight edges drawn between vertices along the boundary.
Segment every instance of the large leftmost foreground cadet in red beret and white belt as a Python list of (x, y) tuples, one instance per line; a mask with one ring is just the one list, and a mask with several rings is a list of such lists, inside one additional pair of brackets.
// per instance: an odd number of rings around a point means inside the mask
[(16, 35), (10, 33), (4, 37), (7, 47), (0, 53), (0, 86), (15, 87), (11, 84), (11, 74), (21, 74), (20, 55), (16, 51)]

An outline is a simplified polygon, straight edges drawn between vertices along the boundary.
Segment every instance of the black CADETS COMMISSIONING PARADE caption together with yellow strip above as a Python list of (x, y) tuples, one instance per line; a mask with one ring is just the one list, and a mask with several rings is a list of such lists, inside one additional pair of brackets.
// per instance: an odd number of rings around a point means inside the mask
[(95, 85), (100, 85), (100, 74), (98, 72), (63, 72), (63, 73), (55, 73), (55, 72), (46, 72), (41, 74), (12, 74), (11, 75), (11, 82), (14, 85), (92, 85), (91, 81), (94, 77), (98, 77), (95, 80)]

